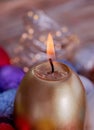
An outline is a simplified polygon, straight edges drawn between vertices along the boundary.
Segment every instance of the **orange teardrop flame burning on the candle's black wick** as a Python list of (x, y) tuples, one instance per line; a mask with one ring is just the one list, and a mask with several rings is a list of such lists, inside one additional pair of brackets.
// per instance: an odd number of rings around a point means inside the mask
[(52, 35), (49, 33), (47, 38), (47, 56), (48, 58), (55, 59), (55, 48)]

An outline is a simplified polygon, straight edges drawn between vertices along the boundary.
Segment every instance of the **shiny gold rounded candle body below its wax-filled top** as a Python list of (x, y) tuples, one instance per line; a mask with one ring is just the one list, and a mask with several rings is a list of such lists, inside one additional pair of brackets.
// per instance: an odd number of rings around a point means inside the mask
[(68, 71), (66, 78), (48, 81), (31, 69), (18, 89), (15, 117), (27, 119), (34, 130), (83, 130), (84, 87), (78, 76)]

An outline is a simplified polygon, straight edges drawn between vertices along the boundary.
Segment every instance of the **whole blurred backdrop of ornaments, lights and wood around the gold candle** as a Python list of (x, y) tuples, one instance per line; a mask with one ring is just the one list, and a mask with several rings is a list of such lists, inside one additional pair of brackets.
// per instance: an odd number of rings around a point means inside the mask
[(69, 65), (84, 84), (85, 130), (94, 130), (94, 0), (0, 0), (0, 117), (12, 115), (24, 73), (47, 60), (48, 33), (56, 60)]

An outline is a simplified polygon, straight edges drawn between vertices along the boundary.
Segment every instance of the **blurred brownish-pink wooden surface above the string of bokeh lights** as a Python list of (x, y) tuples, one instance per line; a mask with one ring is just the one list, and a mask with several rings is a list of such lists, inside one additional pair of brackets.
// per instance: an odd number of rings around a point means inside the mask
[(13, 33), (14, 35), (22, 33), (20, 20), (24, 13), (32, 8), (43, 10), (60, 25), (67, 26), (77, 33), (81, 42), (93, 42), (93, 0), (0, 0), (1, 41), (11, 37)]

